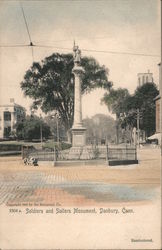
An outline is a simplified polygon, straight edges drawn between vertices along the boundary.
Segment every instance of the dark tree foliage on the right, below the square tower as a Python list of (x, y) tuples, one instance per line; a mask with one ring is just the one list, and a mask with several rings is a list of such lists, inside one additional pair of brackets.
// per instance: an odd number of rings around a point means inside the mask
[[(155, 83), (145, 83), (137, 87), (133, 95), (126, 89), (111, 89), (103, 97), (109, 110), (115, 113), (122, 128), (137, 128), (137, 111), (140, 115), (140, 129), (150, 136), (155, 132), (155, 102), (158, 95)], [(131, 134), (131, 133), (130, 133)]]

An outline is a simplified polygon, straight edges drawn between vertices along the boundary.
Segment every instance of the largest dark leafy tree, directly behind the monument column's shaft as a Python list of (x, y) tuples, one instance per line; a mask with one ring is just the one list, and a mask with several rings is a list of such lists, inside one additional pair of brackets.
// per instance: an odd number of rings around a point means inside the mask
[[(45, 113), (57, 110), (67, 130), (72, 127), (74, 116), (73, 66), (72, 54), (54, 53), (41, 63), (33, 63), (21, 82), (25, 96), (33, 99), (33, 108), (40, 107)], [(85, 71), (82, 94), (97, 87), (111, 87), (108, 70), (94, 58), (83, 57), (81, 66)]]

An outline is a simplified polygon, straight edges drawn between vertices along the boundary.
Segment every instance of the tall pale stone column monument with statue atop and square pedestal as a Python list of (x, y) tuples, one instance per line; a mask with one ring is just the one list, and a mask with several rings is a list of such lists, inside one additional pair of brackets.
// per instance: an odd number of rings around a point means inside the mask
[(81, 67), (81, 51), (78, 46), (73, 47), (74, 52), (74, 122), (72, 126), (72, 147), (83, 147), (86, 145), (86, 128), (82, 123), (82, 99), (81, 84), (84, 69)]

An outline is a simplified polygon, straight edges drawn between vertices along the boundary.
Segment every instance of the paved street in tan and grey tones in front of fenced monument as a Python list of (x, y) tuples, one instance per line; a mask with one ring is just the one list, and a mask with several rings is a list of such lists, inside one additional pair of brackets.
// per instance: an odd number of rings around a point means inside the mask
[(24, 166), (21, 157), (0, 158), (0, 204), (106, 206), (157, 198), (160, 149), (140, 149), (129, 166)]

